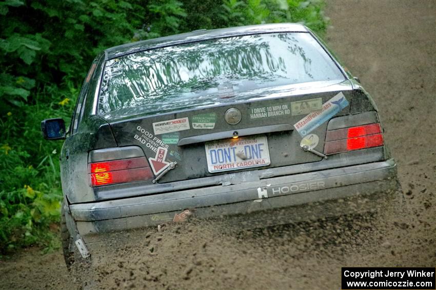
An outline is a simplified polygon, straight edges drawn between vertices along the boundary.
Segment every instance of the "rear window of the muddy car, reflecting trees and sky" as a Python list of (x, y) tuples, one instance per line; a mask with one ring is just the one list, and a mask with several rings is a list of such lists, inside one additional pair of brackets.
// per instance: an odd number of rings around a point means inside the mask
[(331, 80), (345, 78), (309, 33), (219, 38), (107, 61), (98, 111), (208, 106), (262, 89)]

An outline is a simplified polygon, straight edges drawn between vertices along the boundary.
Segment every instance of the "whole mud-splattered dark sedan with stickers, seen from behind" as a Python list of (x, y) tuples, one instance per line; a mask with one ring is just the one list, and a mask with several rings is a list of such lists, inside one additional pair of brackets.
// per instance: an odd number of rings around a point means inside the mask
[(268, 226), (398, 198), (373, 100), (299, 24), (109, 48), (92, 63), (67, 133), (60, 119), (42, 129), (66, 138), (67, 263), (75, 248), (87, 257), (111, 233), (187, 209)]

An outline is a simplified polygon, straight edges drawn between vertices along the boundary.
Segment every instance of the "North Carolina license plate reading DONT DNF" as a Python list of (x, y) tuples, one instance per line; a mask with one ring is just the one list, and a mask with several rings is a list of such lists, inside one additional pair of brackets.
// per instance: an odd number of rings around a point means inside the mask
[(221, 172), (269, 165), (266, 136), (240, 137), (205, 144), (209, 172)]

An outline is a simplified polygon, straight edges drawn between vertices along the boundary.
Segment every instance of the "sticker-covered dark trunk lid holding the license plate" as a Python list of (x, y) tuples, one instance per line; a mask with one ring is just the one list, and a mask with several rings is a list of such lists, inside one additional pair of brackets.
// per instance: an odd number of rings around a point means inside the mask
[(160, 114), (158, 108), (130, 109), (102, 117), (118, 146), (142, 147), (156, 174), (177, 163), (158, 181), (166, 183), (320, 161), (301, 148), (302, 139), (309, 137), (322, 152), (328, 120), (349, 114), (351, 97), (349, 81), (316, 82), (222, 98), (214, 105), (194, 100), (177, 112), (162, 106)]

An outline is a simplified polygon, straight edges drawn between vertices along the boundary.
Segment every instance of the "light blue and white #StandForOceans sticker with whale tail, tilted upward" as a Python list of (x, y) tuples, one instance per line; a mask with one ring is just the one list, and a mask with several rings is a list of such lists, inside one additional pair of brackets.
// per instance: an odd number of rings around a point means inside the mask
[(345, 99), (345, 95), (340, 92), (325, 102), (322, 110), (310, 113), (299, 122), (295, 123), (294, 128), (302, 137), (304, 137), (324, 122), (328, 121), (346, 106), (348, 106), (348, 101)]

